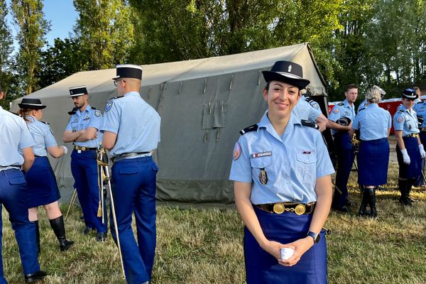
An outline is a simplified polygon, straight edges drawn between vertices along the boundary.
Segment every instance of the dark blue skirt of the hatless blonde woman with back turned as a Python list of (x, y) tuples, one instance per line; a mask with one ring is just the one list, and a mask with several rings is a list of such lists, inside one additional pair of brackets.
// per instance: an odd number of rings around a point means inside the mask
[(385, 185), (388, 180), (388, 138), (362, 141), (358, 153), (358, 183)]

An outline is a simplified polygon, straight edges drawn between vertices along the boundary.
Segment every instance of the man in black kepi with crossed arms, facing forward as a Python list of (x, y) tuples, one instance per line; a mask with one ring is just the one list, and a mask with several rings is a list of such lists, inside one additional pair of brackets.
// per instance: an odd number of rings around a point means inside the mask
[(102, 114), (101, 111), (90, 107), (86, 86), (71, 87), (70, 97), (77, 111), (70, 117), (63, 141), (72, 142), (74, 145), (71, 153), (71, 172), (86, 225), (83, 234), (96, 229), (97, 241), (104, 241), (107, 237), (107, 224), (102, 224), (102, 218), (97, 217), (99, 185), (96, 160), (96, 150), (102, 141), (102, 135), (99, 133)]

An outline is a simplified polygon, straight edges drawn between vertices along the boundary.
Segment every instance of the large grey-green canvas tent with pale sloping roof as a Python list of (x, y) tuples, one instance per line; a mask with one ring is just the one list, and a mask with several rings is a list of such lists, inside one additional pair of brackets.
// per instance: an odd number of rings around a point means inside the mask
[[(143, 65), (141, 97), (161, 116), (161, 142), (154, 158), (158, 200), (229, 203), (234, 199), (228, 180), (234, 143), (239, 131), (261, 119), (266, 110), (261, 91), (262, 70), (277, 60), (302, 65), (309, 87), (325, 90), (324, 79), (307, 43), (250, 53), (182, 62)], [(73, 107), (68, 88), (86, 85), (92, 107), (104, 110), (117, 96), (112, 77), (115, 69), (77, 72), (30, 97), (48, 107), (48, 121), (58, 143), (67, 125), (67, 111)], [(324, 92), (325, 96), (325, 92)], [(325, 102), (326, 97), (318, 97)], [(18, 110), (16, 99), (12, 111)], [(327, 114), (325, 106), (323, 112)], [(128, 121), (131, 124), (131, 121)], [(72, 150), (69, 144), (68, 148)], [(50, 159), (58, 178), (62, 202), (70, 200), (73, 178), (70, 153)]]

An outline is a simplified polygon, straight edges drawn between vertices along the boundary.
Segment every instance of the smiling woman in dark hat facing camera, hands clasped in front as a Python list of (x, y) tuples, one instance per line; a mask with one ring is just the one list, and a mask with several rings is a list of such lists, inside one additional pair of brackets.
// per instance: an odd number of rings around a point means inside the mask
[[(294, 62), (263, 71), (261, 122), (241, 131), (230, 180), (246, 225), (247, 283), (327, 283), (325, 220), (334, 173), (320, 131), (291, 114), (309, 80)], [(294, 251), (283, 256), (281, 251)]]

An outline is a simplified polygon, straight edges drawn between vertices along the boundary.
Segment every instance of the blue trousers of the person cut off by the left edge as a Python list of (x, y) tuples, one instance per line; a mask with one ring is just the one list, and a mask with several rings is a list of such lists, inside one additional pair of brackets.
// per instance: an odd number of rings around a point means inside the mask
[[(26, 197), (26, 180), (21, 170), (10, 169), (0, 171), (0, 214), (1, 204), (9, 212), (9, 220), (15, 231), (19, 256), (24, 274), (40, 270), (37, 260), (37, 244), (35, 241), (35, 224), (28, 219), (28, 203)], [(3, 230), (0, 218), (0, 283), (6, 283), (3, 275), (3, 259), (1, 258), (1, 237)]]

